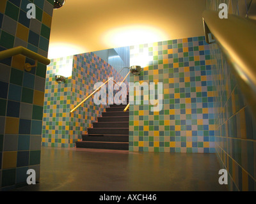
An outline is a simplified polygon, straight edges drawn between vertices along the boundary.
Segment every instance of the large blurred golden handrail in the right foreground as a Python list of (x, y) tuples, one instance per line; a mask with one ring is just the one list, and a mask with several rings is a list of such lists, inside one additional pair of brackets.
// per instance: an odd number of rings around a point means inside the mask
[(256, 115), (256, 24), (248, 18), (228, 14), (219, 18), (218, 11), (207, 10), (203, 13), (205, 40), (209, 34), (230, 63), (237, 85), (244, 93), (247, 102)]

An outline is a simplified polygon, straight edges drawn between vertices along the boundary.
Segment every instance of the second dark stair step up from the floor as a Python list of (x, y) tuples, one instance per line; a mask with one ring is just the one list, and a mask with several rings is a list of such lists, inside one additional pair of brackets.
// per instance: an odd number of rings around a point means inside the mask
[(129, 142), (129, 135), (82, 135), (83, 141)]

